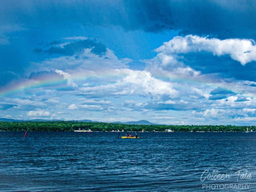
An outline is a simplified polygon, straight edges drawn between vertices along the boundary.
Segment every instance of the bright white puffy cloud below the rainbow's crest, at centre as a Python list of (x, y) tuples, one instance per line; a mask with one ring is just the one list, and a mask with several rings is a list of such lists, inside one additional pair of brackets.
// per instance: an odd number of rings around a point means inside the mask
[(122, 74), (122, 79), (107, 85), (83, 87), (80, 89), (80, 93), (95, 96), (141, 95), (158, 97), (168, 95), (175, 97), (178, 95), (178, 91), (172, 88), (172, 83), (156, 79), (148, 71), (116, 69), (111, 72)]

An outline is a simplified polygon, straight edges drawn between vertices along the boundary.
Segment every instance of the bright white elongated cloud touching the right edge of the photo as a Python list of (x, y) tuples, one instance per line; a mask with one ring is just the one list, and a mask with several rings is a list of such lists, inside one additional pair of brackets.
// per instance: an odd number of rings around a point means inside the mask
[(242, 65), (256, 61), (256, 45), (251, 39), (220, 40), (196, 35), (176, 36), (169, 42), (164, 42), (164, 45), (155, 49), (155, 51), (168, 56), (165, 58), (171, 58), (178, 53), (206, 51), (217, 56), (230, 55), (232, 59), (239, 61)]

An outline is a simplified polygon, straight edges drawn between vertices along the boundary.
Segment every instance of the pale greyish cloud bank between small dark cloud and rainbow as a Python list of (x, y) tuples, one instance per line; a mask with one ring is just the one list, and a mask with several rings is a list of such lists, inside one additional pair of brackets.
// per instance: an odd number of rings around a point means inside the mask
[[(62, 70), (65, 72), (70, 72), (70, 74), (77, 73), (78, 76), (83, 74), (86, 75), (96, 75), (97, 72), (107, 72), (109, 69), (120, 69), (127, 68), (127, 60), (119, 60), (116, 55), (110, 49), (107, 49), (104, 57), (93, 54), (91, 49), (83, 49), (80, 54), (76, 56), (63, 56), (46, 59), (42, 62), (31, 62), (31, 66), (27, 69), (27, 72), (36, 71), (55, 71)], [(86, 74), (88, 73), (88, 74)]]

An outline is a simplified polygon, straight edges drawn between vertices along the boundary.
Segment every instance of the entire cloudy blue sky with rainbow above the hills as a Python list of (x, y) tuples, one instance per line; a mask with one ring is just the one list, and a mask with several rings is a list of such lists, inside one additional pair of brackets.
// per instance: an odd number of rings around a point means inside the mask
[(0, 118), (256, 124), (256, 2), (0, 1)]

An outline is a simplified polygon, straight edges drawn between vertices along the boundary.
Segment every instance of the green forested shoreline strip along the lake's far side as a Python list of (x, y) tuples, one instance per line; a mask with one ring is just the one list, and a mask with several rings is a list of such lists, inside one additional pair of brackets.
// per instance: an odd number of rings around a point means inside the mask
[(76, 121), (24, 121), (7, 122), (0, 121), (1, 131), (173, 131), (173, 132), (196, 132), (196, 131), (218, 131), (218, 132), (245, 132), (255, 131), (256, 126), (234, 126), (234, 125), (126, 125), (116, 123), (99, 122), (76, 122)]

